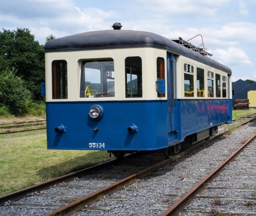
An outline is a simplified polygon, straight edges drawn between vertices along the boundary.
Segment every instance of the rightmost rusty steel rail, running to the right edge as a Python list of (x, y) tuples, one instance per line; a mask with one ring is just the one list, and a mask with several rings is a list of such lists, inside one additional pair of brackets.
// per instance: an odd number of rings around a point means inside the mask
[(253, 135), (246, 143), (241, 145), (234, 153), (232, 153), (228, 158), (225, 159), (219, 166), (212, 170), (206, 177), (204, 177), (199, 183), (197, 183), (191, 190), (189, 190), (183, 197), (176, 201), (170, 208), (162, 213), (161, 216), (176, 216), (181, 212), (184, 207), (191, 201), (191, 199), (196, 198), (196, 194), (205, 189), (205, 184), (211, 182), (216, 176), (219, 175), (219, 172), (224, 169), (224, 167), (234, 160), (235, 156), (242, 152), (242, 150), (254, 140), (256, 134)]

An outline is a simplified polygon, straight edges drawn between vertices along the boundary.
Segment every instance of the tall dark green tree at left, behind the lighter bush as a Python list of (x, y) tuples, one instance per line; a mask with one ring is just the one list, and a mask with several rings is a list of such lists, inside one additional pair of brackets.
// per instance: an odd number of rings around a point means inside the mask
[(45, 80), (44, 46), (35, 41), (28, 28), (0, 32), (0, 73), (8, 68), (15, 68), (33, 99), (41, 99), (40, 83)]

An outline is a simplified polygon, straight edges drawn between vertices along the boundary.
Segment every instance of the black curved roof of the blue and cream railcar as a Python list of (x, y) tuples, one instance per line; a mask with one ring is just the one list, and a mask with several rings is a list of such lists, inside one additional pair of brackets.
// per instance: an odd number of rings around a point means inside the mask
[(95, 49), (153, 47), (205, 63), (232, 74), (231, 69), (202, 54), (152, 32), (133, 30), (102, 30), (50, 40), (45, 44), (45, 53), (56, 51), (78, 51)]

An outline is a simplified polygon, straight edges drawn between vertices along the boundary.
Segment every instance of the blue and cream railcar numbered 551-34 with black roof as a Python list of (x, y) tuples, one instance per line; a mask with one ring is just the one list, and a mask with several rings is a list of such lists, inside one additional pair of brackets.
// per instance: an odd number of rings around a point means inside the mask
[(206, 139), (232, 121), (231, 70), (151, 32), (48, 41), (45, 68), (48, 149), (117, 157), (163, 149), (168, 157), (184, 140)]

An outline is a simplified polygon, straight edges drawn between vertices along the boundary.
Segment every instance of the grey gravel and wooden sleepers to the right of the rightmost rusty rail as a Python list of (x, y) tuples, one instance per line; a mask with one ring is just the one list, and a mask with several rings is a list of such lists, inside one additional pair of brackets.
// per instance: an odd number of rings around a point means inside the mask
[(256, 215), (255, 144), (255, 139), (245, 143), (243, 152), (207, 184), (206, 189), (185, 208), (183, 215), (185, 212)]

